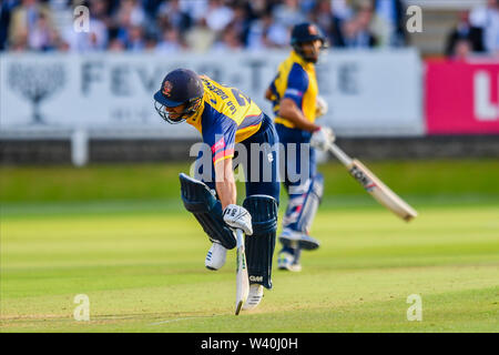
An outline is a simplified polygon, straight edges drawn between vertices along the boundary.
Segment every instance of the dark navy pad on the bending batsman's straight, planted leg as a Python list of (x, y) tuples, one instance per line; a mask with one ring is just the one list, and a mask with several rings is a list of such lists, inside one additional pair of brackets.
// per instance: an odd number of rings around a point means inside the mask
[(272, 288), (272, 257), (277, 231), (277, 202), (267, 195), (246, 197), (243, 206), (252, 215), (253, 235), (245, 240), (249, 283)]

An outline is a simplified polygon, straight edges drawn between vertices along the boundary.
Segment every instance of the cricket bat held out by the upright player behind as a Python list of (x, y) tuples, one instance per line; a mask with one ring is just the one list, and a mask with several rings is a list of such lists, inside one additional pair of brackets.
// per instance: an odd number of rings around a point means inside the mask
[(346, 166), (350, 175), (381, 205), (400, 219), (409, 222), (418, 215), (409, 204), (385, 185), (369, 169), (356, 159), (350, 159), (339, 146), (329, 144), (329, 151)]

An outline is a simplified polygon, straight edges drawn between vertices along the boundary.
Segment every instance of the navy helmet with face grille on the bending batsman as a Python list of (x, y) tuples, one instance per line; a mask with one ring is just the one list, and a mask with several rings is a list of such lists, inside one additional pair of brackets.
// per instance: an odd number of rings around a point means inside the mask
[[(196, 112), (203, 94), (203, 83), (195, 72), (175, 69), (163, 79), (160, 90), (154, 94), (154, 108), (166, 122), (180, 123)], [(181, 104), (185, 104), (184, 111), (179, 118), (171, 119), (165, 108), (176, 108)]]

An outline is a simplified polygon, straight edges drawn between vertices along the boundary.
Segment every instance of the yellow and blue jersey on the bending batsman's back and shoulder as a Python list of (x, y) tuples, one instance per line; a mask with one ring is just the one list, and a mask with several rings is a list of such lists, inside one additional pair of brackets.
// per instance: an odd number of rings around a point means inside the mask
[(264, 114), (248, 97), (235, 88), (200, 77), (204, 87), (200, 111), (187, 119), (210, 144), (213, 163), (234, 156), (234, 145), (258, 132)]

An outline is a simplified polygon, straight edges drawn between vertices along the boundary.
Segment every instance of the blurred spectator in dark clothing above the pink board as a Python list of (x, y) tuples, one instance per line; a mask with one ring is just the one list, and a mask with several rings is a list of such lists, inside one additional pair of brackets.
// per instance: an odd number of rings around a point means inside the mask
[[(461, 41), (468, 42), (471, 52), (483, 52), (483, 30), (479, 27), (471, 26), (469, 21), (469, 11), (459, 13), (459, 22), (449, 33), (446, 44), (446, 55), (452, 57), (456, 48)], [(464, 44), (460, 44), (461, 47)]]

